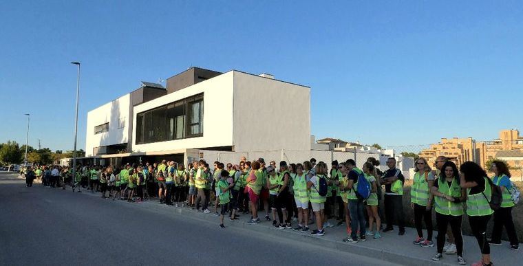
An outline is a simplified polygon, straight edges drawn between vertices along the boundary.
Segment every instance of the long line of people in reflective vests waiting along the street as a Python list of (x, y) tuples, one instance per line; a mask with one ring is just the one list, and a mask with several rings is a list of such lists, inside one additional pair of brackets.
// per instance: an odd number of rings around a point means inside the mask
[[(65, 190), (70, 186), (73, 192), (100, 192), (105, 199), (141, 202), (155, 198), (160, 204), (206, 214), (211, 213), (211, 208), (220, 217), (221, 228), (225, 228), (226, 217), (234, 221), (241, 214), (250, 215), (248, 224), (272, 221), (275, 228), (314, 236), (323, 236), (326, 228), (345, 224), (348, 236), (343, 242), (358, 243), (367, 238), (378, 240), (382, 233), (394, 232), (393, 224), (398, 225), (398, 235), (405, 234), (402, 203), (405, 177), (396, 168), (394, 157), (387, 159), (385, 172), (381, 173), (378, 165), (374, 157), (367, 159), (361, 169), (353, 159), (334, 161), (328, 168), (325, 162), (317, 163), (314, 158), (301, 164), (282, 161), (277, 165), (273, 161), (266, 165), (263, 158), (249, 162), (242, 157), (238, 164), (214, 162), (212, 168), (204, 160), (187, 167), (165, 160), (120, 168), (78, 166), (74, 177), (68, 167), (35, 166), (26, 170), (25, 178), (27, 186), (38, 179), (45, 187)], [(417, 232), (414, 245), (434, 247), (432, 212), (435, 210), (438, 235), (433, 261), (440, 261), (445, 252), (456, 254), (460, 265), (466, 264), (462, 239), (465, 214), (482, 254), (481, 261), (473, 265), (492, 265), (489, 245), (501, 245), (503, 227), (511, 249), (519, 249), (511, 214), (515, 204), (509, 191), (513, 184), (504, 162), (493, 162), (492, 178), (473, 162), (465, 162), (458, 169), (440, 156), (434, 166), (433, 170), (423, 158), (415, 162), (410, 190)], [(361, 196), (359, 182), (370, 185), (368, 197)], [(500, 208), (493, 210), (490, 203), (496, 187), (501, 188), (502, 202)], [(487, 240), (487, 224), (492, 216), (493, 231)], [(382, 217), (386, 222), (384, 228)], [(330, 223), (333, 220), (337, 223)], [(314, 230), (309, 228), (310, 224), (315, 224)]]

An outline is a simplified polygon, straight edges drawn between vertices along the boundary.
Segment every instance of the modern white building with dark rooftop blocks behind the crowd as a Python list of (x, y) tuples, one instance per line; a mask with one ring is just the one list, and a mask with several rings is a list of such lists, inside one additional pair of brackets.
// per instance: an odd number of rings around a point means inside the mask
[(192, 67), (87, 114), (95, 164), (190, 162), (200, 150), (310, 150), (310, 88), (272, 75)]

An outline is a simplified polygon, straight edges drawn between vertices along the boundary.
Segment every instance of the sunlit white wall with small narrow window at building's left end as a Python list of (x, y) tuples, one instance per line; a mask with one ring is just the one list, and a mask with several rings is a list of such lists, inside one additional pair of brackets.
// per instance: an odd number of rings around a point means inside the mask
[[(85, 134), (85, 155), (93, 155), (93, 148), (127, 143), (129, 139), (129, 104), (131, 95), (126, 94), (112, 102), (87, 113), (87, 133)], [(119, 128), (120, 118), (123, 127)], [(109, 132), (94, 134), (94, 127), (109, 122)]]

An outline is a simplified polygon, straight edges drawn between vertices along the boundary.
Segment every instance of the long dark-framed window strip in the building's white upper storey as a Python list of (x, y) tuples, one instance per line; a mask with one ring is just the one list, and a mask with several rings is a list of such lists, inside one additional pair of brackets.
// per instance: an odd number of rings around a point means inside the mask
[(136, 115), (136, 144), (203, 135), (204, 96), (199, 94)]

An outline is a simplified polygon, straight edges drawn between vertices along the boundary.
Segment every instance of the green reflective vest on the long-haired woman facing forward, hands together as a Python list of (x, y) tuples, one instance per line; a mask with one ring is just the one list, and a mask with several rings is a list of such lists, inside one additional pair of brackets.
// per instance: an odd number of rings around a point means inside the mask
[[(438, 179), (438, 192), (450, 197), (461, 197), (461, 187), (458, 184), (456, 178), (452, 179), (452, 183), (449, 187), (449, 183), (445, 178)], [(463, 215), (463, 204), (454, 203), (442, 197), (434, 197), (434, 205), (436, 206), (436, 212), (444, 215), (461, 216)]]

